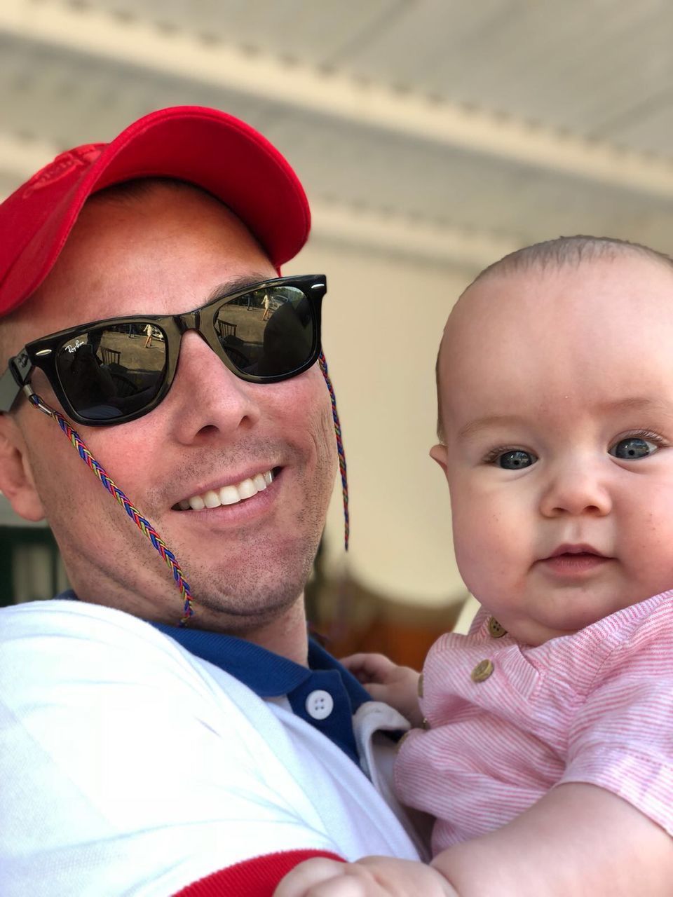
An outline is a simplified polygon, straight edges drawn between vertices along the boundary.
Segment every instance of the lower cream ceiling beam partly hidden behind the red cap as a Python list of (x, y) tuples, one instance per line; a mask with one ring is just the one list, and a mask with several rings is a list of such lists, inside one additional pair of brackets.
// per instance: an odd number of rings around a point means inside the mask
[[(55, 144), (0, 133), (0, 176), (18, 186), (58, 152)], [(0, 194), (0, 201), (4, 198)], [(475, 270), (518, 248), (520, 242), (319, 199), (311, 202), (311, 216), (312, 239)]]

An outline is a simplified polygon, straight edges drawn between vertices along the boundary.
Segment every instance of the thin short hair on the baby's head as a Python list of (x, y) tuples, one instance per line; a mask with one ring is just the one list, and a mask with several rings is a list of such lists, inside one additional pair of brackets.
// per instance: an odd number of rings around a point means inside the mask
[[(632, 243), (628, 239), (577, 234), (574, 237), (546, 239), (541, 243), (533, 243), (532, 246), (516, 249), (480, 271), (472, 283), (460, 294), (460, 298), (469, 292), (475, 283), (496, 274), (514, 274), (532, 270), (545, 271), (549, 268), (560, 268), (567, 265), (579, 267), (584, 262), (593, 262), (603, 258), (614, 259), (625, 256), (627, 253), (649, 258), (651, 261), (673, 270), (673, 258), (658, 249), (643, 246), (642, 243)], [(434, 370), (437, 384), (437, 439), (444, 443), (444, 430), (441, 423), (443, 415), (441, 413), (440, 356), (441, 343)]]

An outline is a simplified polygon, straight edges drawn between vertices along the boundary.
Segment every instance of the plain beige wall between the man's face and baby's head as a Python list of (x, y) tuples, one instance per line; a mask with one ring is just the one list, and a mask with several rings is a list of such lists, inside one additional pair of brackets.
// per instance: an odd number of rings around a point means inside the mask
[[(475, 272), (375, 256), (313, 239), (291, 273), (328, 275), (324, 348), (344, 433), (351, 507), (349, 571), (404, 602), (465, 596), (453, 560), (449, 494), (428, 457), (436, 423), (441, 328)], [(328, 518), (328, 558), (343, 558), (341, 491)]]

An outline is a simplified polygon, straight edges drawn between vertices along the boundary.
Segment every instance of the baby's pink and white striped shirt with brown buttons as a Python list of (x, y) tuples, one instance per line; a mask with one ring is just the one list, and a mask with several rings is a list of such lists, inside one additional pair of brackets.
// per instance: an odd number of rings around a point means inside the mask
[[(562, 782), (607, 788), (673, 834), (673, 591), (537, 648), (442, 635), (398, 753), (398, 797), (437, 817), (433, 854), (490, 832)], [(483, 660), (493, 672), (474, 682)]]

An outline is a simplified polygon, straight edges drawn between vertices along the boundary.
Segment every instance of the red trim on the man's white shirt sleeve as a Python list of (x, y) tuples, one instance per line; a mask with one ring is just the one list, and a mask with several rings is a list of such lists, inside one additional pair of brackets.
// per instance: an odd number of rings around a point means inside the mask
[(267, 853), (263, 857), (245, 859), (235, 866), (219, 869), (197, 882), (188, 884), (174, 897), (232, 897), (245, 894), (246, 897), (272, 897), (276, 886), (284, 875), (313, 857), (339, 859), (336, 853), (327, 850), (285, 850), (283, 853)]

